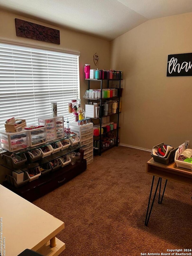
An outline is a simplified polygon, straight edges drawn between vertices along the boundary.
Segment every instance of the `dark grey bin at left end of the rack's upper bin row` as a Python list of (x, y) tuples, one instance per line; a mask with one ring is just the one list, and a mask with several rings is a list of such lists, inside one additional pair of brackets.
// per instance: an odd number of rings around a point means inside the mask
[(2, 158), (5, 159), (7, 165), (12, 168), (18, 168), (19, 166), (25, 164), (25, 162), (27, 161), (26, 155), (24, 153), (8, 153), (6, 155), (3, 154)]

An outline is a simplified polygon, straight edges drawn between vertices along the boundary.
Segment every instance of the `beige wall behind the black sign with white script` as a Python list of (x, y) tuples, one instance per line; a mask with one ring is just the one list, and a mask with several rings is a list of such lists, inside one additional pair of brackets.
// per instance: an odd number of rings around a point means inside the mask
[(168, 54), (191, 53), (192, 13), (147, 21), (111, 42), (123, 71), (120, 143), (151, 149), (192, 146), (192, 77), (167, 77)]

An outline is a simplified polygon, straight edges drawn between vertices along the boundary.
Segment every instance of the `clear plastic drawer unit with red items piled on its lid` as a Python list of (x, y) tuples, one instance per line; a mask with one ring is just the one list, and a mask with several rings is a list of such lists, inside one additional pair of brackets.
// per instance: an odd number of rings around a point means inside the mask
[[(37, 125), (33, 125), (38, 127)], [(30, 127), (27, 127), (30, 128)], [(46, 127), (34, 128), (28, 130), (25, 128), (29, 135), (29, 146), (38, 146), (47, 142)]]

